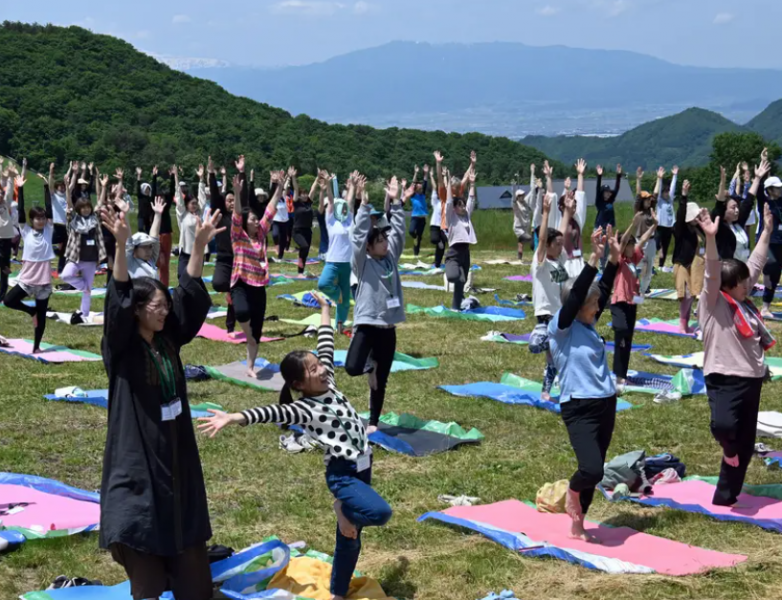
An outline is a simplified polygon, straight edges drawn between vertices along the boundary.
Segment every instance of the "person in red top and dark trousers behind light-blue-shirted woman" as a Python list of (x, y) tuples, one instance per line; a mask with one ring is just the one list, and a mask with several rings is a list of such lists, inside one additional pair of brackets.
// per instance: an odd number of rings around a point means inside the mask
[(619, 269), (614, 283), (614, 296), (611, 298), (611, 319), (614, 329), (614, 374), (616, 375), (616, 393), (624, 392), (627, 370), (630, 367), (630, 353), (633, 349), (635, 319), (638, 305), (644, 300), (638, 280), (638, 265), (644, 258), (643, 247), (657, 229), (657, 215), (652, 211), (654, 223), (636, 242), (632, 232), (646, 218), (643, 212), (635, 215), (620, 242)]

